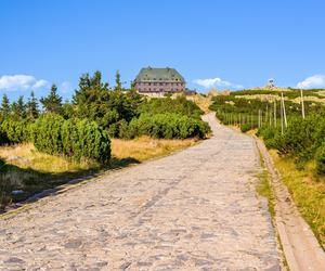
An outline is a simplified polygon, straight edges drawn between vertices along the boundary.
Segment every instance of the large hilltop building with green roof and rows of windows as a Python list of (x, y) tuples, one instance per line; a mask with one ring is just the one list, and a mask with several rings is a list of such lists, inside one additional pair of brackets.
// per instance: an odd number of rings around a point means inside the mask
[(164, 95), (185, 91), (185, 80), (174, 68), (142, 68), (134, 80), (141, 94)]

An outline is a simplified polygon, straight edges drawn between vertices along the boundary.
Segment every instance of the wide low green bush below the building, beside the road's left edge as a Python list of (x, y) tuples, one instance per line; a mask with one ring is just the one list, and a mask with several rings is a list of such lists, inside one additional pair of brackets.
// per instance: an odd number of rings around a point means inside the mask
[(150, 136), (158, 139), (204, 139), (210, 128), (202, 120), (178, 114), (142, 114), (133, 118), (123, 131), (127, 132), (121, 136), (126, 138)]

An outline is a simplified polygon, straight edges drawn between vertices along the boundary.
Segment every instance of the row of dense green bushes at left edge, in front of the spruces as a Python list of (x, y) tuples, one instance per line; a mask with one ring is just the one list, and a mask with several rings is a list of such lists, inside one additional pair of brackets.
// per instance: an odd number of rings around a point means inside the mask
[(35, 122), (4, 120), (1, 124), (0, 143), (32, 142), (35, 147), (52, 155), (65, 155), (107, 163), (110, 158), (110, 140), (95, 121), (68, 119), (46, 114)]

